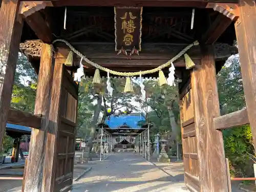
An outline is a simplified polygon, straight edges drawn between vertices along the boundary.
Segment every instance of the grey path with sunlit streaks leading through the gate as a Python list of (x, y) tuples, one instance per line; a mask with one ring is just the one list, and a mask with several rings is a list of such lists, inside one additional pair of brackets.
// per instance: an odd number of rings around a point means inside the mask
[(141, 156), (112, 154), (104, 162), (89, 163), (92, 170), (73, 184), (72, 192), (185, 192), (183, 181), (163, 172)]

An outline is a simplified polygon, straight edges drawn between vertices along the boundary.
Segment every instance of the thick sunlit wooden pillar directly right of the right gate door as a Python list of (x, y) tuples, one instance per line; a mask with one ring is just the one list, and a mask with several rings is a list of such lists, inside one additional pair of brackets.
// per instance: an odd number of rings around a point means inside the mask
[(227, 192), (223, 136), (214, 127), (220, 105), (212, 45), (201, 46), (201, 52), (201, 65), (191, 73), (201, 191)]

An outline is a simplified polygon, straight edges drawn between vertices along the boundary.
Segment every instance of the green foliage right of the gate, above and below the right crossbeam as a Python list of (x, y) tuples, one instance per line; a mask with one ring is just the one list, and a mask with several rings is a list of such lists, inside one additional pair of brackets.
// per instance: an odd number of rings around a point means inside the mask
[[(245, 108), (242, 75), (239, 56), (231, 56), (226, 66), (217, 76), (221, 114), (227, 114)], [(230, 173), (233, 176), (250, 177), (252, 156), (254, 155), (252, 134), (249, 125), (233, 127), (223, 131), (226, 157), (230, 162)]]

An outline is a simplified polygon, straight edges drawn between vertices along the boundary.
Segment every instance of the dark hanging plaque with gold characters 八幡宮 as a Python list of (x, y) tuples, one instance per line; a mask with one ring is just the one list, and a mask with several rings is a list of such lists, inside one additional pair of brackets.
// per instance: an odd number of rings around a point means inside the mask
[(117, 54), (131, 56), (141, 51), (142, 7), (115, 7)]

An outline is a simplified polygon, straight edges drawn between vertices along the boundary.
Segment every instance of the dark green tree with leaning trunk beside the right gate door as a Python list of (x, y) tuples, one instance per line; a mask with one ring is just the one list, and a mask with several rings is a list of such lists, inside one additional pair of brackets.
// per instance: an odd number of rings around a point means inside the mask
[(160, 87), (156, 80), (145, 80), (144, 84), (146, 99), (142, 101), (140, 88), (137, 88), (136, 101), (140, 103), (144, 117), (154, 124), (151, 129), (152, 134), (161, 133), (169, 141), (169, 145), (173, 143), (173, 140), (179, 142), (180, 111), (177, 102), (177, 88), (167, 85)]

